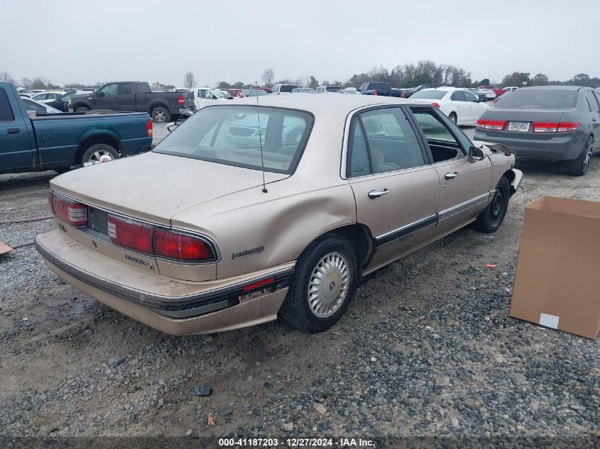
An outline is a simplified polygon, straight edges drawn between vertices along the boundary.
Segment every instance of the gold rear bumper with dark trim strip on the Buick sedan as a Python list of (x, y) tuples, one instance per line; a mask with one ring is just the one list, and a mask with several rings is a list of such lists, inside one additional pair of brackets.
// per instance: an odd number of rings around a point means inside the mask
[[(50, 270), (77, 289), (137, 321), (180, 336), (275, 320), (293, 275), (290, 263), (217, 282), (178, 281), (111, 260), (58, 229), (38, 235), (36, 249)], [(244, 286), (271, 277), (276, 279), (272, 284), (244, 292)], [(144, 289), (131, 287), (127, 279)]]

